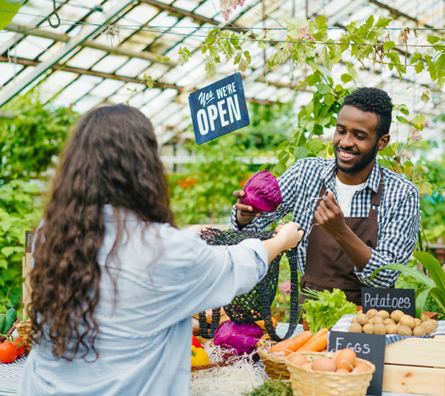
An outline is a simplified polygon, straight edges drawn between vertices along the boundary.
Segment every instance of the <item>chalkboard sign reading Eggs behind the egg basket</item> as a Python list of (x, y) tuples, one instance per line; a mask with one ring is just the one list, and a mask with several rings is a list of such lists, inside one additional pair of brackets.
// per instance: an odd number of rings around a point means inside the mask
[(328, 350), (354, 349), (358, 358), (370, 361), (376, 366), (367, 395), (381, 396), (383, 362), (385, 359), (385, 336), (381, 334), (329, 332)]

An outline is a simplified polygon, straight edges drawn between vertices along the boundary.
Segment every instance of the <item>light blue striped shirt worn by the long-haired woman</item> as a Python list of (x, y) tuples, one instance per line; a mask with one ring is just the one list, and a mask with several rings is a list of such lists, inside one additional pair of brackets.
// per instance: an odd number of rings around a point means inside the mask
[[(35, 345), (18, 395), (186, 396), (192, 315), (251, 290), (267, 271), (267, 251), (259, 239), (209, 246), (195, 232), (170, 225), (144, 230), (144, 223), (129, 214), (127, 243), (108, 260), (111, 275), (118, 273), (115, 295), (105, 258), (116, 222), (110, 205), (103, 213), (100, 300), (94, 313), (99, 358), (86, 363), (78, 353), (74, 361), (54, 359), (46, 342)], [(93, 358), (90, 353), (88, 360)]]

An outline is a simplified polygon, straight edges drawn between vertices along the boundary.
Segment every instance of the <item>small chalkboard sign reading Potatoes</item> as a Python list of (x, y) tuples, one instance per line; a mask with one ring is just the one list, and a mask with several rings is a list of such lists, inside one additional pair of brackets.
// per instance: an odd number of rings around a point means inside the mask
[(362, 305), (363, 312), (375, 308), (389, 313), (401, 310), (412, 317), (416, 315), (414, 289), (362, 288)]

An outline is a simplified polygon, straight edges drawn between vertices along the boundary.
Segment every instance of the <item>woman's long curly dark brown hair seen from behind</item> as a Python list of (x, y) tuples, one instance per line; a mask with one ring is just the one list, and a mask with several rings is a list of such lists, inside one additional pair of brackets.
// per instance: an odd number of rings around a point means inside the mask
[[(153, 126), (125, 105), (96, 108), (79, 120), (35, 237), (29, 307), (33, 341), (47, 339), (53, 355), (69, 361), (80, 346), (84, 359), (90, 349), (98, 357), (94, 310), (100, 298), (97, 256), (105, 204), (131, 211), (141, 222), (174, 226)], [(125, 230), (123, 222), (118, 217), (111, 254)]]

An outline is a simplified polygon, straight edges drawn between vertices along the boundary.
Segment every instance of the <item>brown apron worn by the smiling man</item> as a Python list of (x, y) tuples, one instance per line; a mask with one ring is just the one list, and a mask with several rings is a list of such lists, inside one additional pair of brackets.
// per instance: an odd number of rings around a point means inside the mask
[[(378, 191), (373, 191), (371, 205), (378, 207), (383, 190), (383, 171), (378, 183)], [(321, 198), (326, 191), (325, 184), (320, 190)], [(320, 203), (318, 203), (319, 205)], [(371, 248), (377, 244), (377, 217), (378, 209), (369, 209), (368, 217), (345, 217), (346, 224), (354, 234)], [(313, 217), (312, 224), (316, 223)], [(309, 234), (308, 247), (306, 249), (306, 271), (301, 277), (301, 290), (311, 288), (314, 290), (330, 290), (339, 288), (346, 294), (348, 301), (356, 305), (362, 305), (361, 288), (363, 283), (354, 274), (354, 264), (340, 248), (335, 239), (324, 232), (318, 225), (312, 227)], [(304, 301), (304, 295), (300, 294), (299, 303)]]

